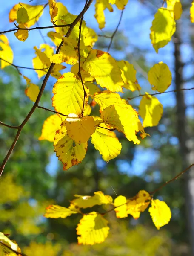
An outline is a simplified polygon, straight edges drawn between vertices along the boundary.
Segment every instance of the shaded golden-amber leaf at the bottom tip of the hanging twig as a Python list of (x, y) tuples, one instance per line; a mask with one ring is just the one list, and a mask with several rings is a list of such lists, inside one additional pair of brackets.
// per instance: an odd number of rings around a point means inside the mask
[(65, 122), (67, 135), (79, 144), (88, 141), (96, 128), (92, 116), (79, 118), (76, 114), (69, 114)]

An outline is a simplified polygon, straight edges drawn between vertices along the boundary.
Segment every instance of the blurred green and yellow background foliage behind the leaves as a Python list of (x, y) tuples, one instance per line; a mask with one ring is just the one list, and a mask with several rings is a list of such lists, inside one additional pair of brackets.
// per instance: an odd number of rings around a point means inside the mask
[[(73, 1), (72, 4), (75, 3)], [(153, 1), (145, 1), (146, 4), (157, 6)], [(185, 9), (188, 11), (188, 5)], [(112, 31), (104, 34), (111, 35)], [(106, 50), (108, 43), (109, 39), (100, 37), (95, 48)], [(133, 62), (138, 71), (137, 80), (148, 91), (145, 78), (150, 65), (145, 56), (149, 51), (133, 47), (132, 51), (126, 52), (128, 45), (131, 45), (131, 41), (122, 30), (119, 31), (113, 41), (113, 55), (118, 60)], [(0, 93), (0, 120), (18, 125), (32, 106), (32, 102), (24, 94), (26, 85), (13, 67), (1, 70), (0, 77), (0, 90), (3, 92)], [(47, 108), (51, 108), (51, 87), (52, 84), (48, 84), (41, 99), (41, 105)], [(128, 92), (125, 98), (131, 96), (132, 93)], [(130, 102), (134, 108), (137, 108), (138, 100)], [(96, 108), (92, 111), (93, 114), (98, 112)], [(165, 186), (155, 195), (155, 198), (164, 200), (172, 211), (171, 222), (160, 231), (152, 224), (148, 212), (144, 212), (138, 220), (130, 217), (116, 219), (114, 212), (110, 212), (107, 215), (110, 224), (108, 239), (103, 244), (80, 246), (76, 244), (75, 230), (80, 216), (66, 219), (43, 217), (46, 206), (59, 204), (66, 207), (74, 194), (92, 195), (94, 191), (101, 190), (113, 198), (116, 197), (115, 192), (129, 198), (141, 189), (151, 192), (181, 172), (182, 158), (177, 138), (179, 128), (176, 114), (176, 105), (164, 105), (160, 124), (147, 128), (146, 132), (151, 137), (146, 137), (137, 146), (138, 156), (137, 147), (129, 143), (122, 134), (118, 134), (122, 151), (116, 159), (104, 162), (89, 143), (82, 163), (64, 172), (55, 157), (52, 143), (38, 140), (43, 122), (51, 113), (37, 109), (23, 128), (0, 180), (0, 231), (10, 233), (9, 238), (16, 240), (22, 252), (28, 256), (188, 255), (183, 178)], [(194, 119), (191, 116), (187, 116), (187, 119), (193, 133)], [(14, 129), (0, 127), (0, 162), (8, 151), (15, 132)], [(151, 161), (148, 163), (146, 158)], [(136, 165), (133, 165), (134, 161)]]

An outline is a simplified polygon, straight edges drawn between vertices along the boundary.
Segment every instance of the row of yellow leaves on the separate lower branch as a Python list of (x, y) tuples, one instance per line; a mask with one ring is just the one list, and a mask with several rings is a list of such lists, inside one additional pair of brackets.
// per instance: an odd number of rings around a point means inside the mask
[(109, 227), (108, 221), (103, 217), (104, 214), (98, 212), (90, 212), (84, 214), (81, 209), (94, 207), (95, 205), (110, 204), (114, 206), (117, 218), (126, 218), (128, 214), (137, 219), (140, 217), (140, 212), (151, 204), (149, 212), (154, 225), (157, 229), (163, 227), (171, 219), (171, 210), (167, 204), (158, 199), (151, 198), (148, 192), (141, 190), (134, 198), (129, 200), (120, 195), (113, 203), (110, 195), (104, 195), (103, 192), (94, 192), (94, 196), (74, 195), (76, 198), (70, 202), (68, 208), (59, 205), (50, 205), (46, 208), (46, 218), (66, 218), (72, 214), (80, 213), (83, 218), (77, 225), (77, 240), (78, 244), (96, 244), (102, 243), (108, 236)]

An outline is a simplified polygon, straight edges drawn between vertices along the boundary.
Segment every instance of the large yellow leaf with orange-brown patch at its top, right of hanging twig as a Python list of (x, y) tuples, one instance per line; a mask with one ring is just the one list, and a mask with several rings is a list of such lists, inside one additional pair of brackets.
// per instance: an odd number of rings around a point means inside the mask
[(114, 58), (107, 52), (91, 50), (83, 62), (83, 69), (96, 79), (97, 84), (112, 92), (122, 92), (123, 79)]

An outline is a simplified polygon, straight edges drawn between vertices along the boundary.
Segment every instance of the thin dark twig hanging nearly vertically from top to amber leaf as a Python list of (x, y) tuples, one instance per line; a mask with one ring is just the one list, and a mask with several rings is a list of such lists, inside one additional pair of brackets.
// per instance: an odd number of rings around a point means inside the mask
[[(87, 3), (88, 3), (88, 0), (86, 0), (86, 3), (85, 3), (85, 6), (84, 6), (84, 9), (86, 9), (86, 6), (87, 6)], [(83, 96), (83, 108), (82, 108), (82, 113), (81, 113), (81, 116), (83, 117), (83, 111), (84, 111), (84, 105), (85, 105), (85, 98), (87, 98), (87, 93), (86, 93), (86, 90), (85, 90), (85, 87), (84, 87), (84, 84), (83, 84), (83, 79), (82, 79), (82, 75), (81, 75), (81, 55), (80, 55), (80, 40), (81, 40), (81, 30), (82, 30), (82, 21), (83, 21), (83, 15), (84, 15), (84, 12), (82, 14), (82, 17), (81, 17), (81, 20), (80, 20), (80, 26), (79, 26), (79, 38), (78, 38), (78, 42), (77, 42), (77, 48), (78, 48), (78, 63), (79, 63), (79, 71), (78, 71), (78, 74), (79, 74), (79, 77), (81, 79), (81, 82), (82, 82), (82, 87), (83, 87), (83, 92), (84, 92), (84, 96)]]

